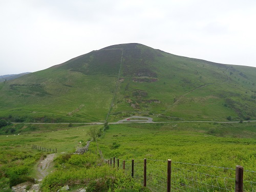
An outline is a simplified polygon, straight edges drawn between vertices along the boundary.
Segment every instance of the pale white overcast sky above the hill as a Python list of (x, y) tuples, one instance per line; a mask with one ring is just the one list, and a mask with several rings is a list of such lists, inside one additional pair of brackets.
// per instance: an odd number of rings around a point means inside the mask
[(256, 1), (0, 0), (0, 75), (129, 42), (256, 67)]

